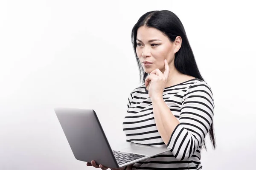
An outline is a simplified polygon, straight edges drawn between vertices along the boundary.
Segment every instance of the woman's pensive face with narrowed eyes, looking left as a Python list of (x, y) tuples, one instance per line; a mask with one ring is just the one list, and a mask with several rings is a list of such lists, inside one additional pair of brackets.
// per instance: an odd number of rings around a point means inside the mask
[[(141, 26), (137, 31), (136, 42), (136, 53), (146, 73), (150, 74), (157, 68), (163, 73), (165, 71), (164, 59), (167, 59), (169, 66), (174, 65), (175, 53), (178, 51), (177, 43), (171, 42), (158, 29)], [(145, 61), (152, 64), (143, 64)]]

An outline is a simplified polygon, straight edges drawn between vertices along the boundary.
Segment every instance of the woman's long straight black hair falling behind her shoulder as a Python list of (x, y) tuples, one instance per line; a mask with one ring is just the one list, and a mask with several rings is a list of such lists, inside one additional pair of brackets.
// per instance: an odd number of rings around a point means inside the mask
[[(189, 40), (186, 36), (183, 24), (181, 23), (180, 19), (177, 17), (176, 14), (168, 10), (163, 10), (150, 11), (143, 14), (143, 16), (140, 17), (140, 19), (137, 21), (137, 23), (134, 25), (131, 31), (131, 41), (133, 44), (134, 53), (136, 56), (137, 65), (140, 72), (140, 82), (143, 78), (143, 83), (145, 83), (145, 79), (148, 76), (148, 74), (145, 73), (143, 67), (141, 66), (140, 60), (136, 53), (137, 31), (138, 28), (140, 28), (141, 26), (147, 26), (158, 29), (159, 31), (163, 32), (163, 34), (165, 34), (167, 37), (169, 37), (169, 40), (171, 42), (174, 42), (176, 37), (180, 36), (182, 39), (182, 45), (180, 47), (180, 50), (177, 51), (177, 53), (175, 54), (175, 67), (182, 74), (190, 75), (204, 81), (195, 62), (195, 57), (189, 45)], [(215, 149), (216, 143), (213, 122), (209, 129), (209, 136), (212, 142), (212, 146)], [(203, 147), (207, 149), (205, 145), (205, 140), (202, 142), (202, 144)]]

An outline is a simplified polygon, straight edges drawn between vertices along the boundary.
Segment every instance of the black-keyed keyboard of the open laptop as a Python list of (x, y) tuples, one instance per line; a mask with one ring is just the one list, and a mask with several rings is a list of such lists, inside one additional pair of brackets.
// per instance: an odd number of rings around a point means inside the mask
[(144, 157), (145, 155), (138, 155), (133, 153), (119, 152), (113, 150), (114, 156), (116, 157), (116, 161), (118, 164), (125, 164), (129, 161), (133, 161), (135, 159), (139, 159)]

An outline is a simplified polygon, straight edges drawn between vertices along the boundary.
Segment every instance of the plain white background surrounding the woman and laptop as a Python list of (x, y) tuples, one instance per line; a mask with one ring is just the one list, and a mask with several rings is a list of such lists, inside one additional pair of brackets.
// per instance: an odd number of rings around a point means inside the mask
[[(131, 29), (173, 11), (213, 91), (217, 149), (204, 170), (255, 169), (255, 6), (246, 1), (0, 1), (0, 170), (89, 170), (53, 108), (93, 108), (111, 144), (139, 72)], [(208, 139), (208, 137), (207, 137)]]

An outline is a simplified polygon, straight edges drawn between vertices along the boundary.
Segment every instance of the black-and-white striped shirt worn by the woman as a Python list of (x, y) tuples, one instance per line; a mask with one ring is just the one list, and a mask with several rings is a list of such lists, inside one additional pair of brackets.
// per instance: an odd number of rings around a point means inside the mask
[[(211, 88), (206, 82), (195, 78), (165, 88), (163, 100), (180, 122), (166, 145), (170, 151), (135, 163), (133, 170), (201, 169), (202, 141), (209, 131), (214, 113)], [(165, 145), (157, 130), (145, 85), (135, 88), (128, 97), (123, 130), (127, 142)]]

